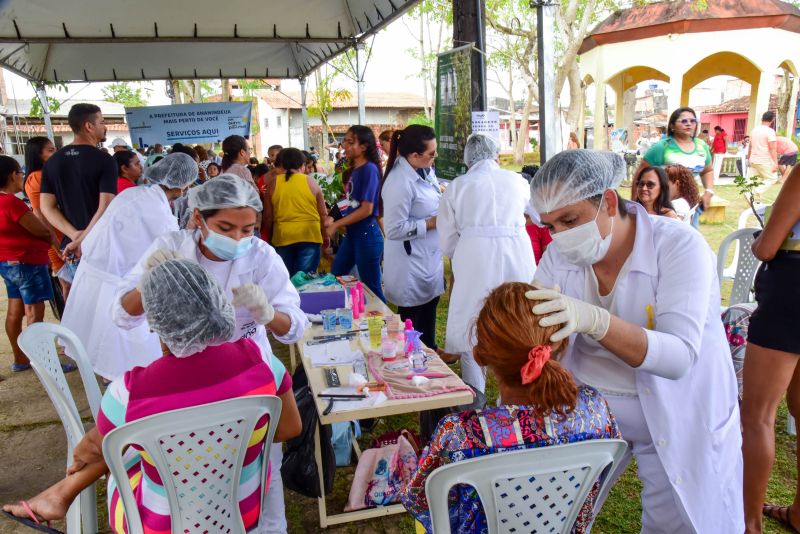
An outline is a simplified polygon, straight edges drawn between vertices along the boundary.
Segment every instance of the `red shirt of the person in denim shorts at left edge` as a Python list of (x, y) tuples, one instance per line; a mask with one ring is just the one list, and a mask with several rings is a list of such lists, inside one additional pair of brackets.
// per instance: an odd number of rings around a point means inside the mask
[(23, 201), (0, 193), (0, 261), (47, 265), (50, 242), (34, 236), (19, 224), (26, 213), (32, 212)]

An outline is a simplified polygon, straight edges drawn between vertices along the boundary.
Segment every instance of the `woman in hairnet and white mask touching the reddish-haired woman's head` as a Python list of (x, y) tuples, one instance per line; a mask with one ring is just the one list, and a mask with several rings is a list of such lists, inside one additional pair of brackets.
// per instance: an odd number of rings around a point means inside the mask
[[(621, 200), (619, 155), (568, 150), (531, 180), (553, 243), (528, 293), (562, 360), (604, 394), (636, 457), (642, 532), (743, 532), (737, 386), (713, 252)], [(546, 289), (553, 288), (553, 289)], [(620, 473), (627, 461), (623, 462)]]

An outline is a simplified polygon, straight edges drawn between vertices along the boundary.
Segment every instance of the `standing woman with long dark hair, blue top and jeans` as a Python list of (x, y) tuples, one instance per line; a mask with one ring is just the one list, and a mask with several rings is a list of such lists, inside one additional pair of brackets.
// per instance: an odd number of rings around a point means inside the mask
[(330, 238), (340, 229), (346, 229), (347, 234), (339, 245), (331, 271), (341, 276), (357, 266), (359, 278), (385, 302), (381, 283), (383, 234), (377, 219), (381, 157), (375, 134), (366, 126), (351, 126), (344, 136), (344, 151), (348, 160), (343, 180), (347, 198), (338, 204), (343, 217), (335, 221), (328, 218), (325, 234)]

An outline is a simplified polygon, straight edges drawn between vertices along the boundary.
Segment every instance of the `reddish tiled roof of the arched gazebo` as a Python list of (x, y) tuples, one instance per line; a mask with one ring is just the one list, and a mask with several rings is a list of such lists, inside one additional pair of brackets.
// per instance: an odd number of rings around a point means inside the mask
[(774, 28), (800, 33), (800, 9), (781, 0), (659, 2), (616, 11), (583, 40), (579, 54), (604, 44), (680, 33)]

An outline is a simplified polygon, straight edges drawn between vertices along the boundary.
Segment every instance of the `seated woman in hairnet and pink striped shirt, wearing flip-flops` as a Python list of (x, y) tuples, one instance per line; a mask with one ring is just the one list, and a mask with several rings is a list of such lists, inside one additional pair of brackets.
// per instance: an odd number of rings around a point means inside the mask
[[(300, 433), (302, 423), (291, 378), (281, 362), (273, 357), (270, 369), (250, 339), (227, 343), (236, 327), (234, 310), (214, 277), (187, 260), (151, 260), (151, 269), (139, 287), (150, 328), (161, 338), (164, 355), (147, 367), (134, 367), (109, 385), (97, 414), (97, 427), (75, 447), (64, 479), (28, 501), (3, 507), (22, 523), (64, 517), (81, 490), (108, 472), (101, 448), (103, 436), (142, 417), (249, 395), (277, 395), (283, 409), (275, 442)], [(255, 434), (264, 424), (266, 421), (259, 421)], [(251, 460), (242, 471), (243, 491), (239, 495), (239, 509), (248, 530), (258, 523), (260, 496), (266, 491), (251, 481), (260, 473), (261, 454), (255, 449), (262, 445), (253, 447), (247, 455)], [(129, 447), (124, 454), (125, 464), (133, 467), (128, 470), (130, 480), (123, 483), (130, 483), (134, 490), (145, 531), (169, 532), (158, 472), (142, 461), (135, 448)], [(108, 517), (111, 530), (121, 534), (127, 532), (127, 526), (119, 509), (117, 483), (109, 477)]]

